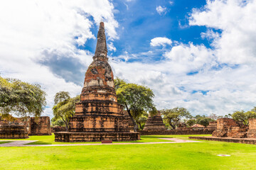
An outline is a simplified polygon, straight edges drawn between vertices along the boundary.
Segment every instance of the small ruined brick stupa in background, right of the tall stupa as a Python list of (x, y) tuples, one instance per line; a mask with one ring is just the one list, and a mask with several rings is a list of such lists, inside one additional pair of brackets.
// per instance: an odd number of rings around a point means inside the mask
[(149, 118), (146, 120), (146, 125), (144, 128), (145, 131), (163, 131), (166, 130), (166, 127), (161, 118), (161, 113), (158, 113), (154, 116), (149, 115)]

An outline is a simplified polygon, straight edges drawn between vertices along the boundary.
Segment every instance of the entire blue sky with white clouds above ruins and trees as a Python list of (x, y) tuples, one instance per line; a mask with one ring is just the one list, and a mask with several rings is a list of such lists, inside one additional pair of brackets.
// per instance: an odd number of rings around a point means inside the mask
[(149, 86), (158, 109), (226, 115), (256, 106), (256, 1), (33, 0), (0, 6), (0, 74), (80, 94), (105, 22), (114, 77)]

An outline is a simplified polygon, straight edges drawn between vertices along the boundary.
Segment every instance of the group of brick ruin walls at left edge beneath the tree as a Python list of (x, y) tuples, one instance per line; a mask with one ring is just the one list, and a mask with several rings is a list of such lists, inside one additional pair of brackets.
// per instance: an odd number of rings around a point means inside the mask
[(0, 121), (1, 139), (23, 139), (28, 135), (51, 135), (50, 118), (42, 116)]

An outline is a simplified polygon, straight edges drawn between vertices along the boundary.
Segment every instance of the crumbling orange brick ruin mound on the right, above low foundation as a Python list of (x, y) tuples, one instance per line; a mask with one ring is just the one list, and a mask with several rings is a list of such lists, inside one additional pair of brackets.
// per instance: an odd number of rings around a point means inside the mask
[(213, 137), (247, 137), (247, 126), (238, 123), (232, 118), (220, 118), (217, 120), (217, 129), (213, 132)]

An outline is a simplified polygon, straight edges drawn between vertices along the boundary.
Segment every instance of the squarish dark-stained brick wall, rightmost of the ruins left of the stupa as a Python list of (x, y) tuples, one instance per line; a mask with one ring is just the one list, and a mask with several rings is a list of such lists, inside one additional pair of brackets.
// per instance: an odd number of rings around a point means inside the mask
[(50, 118), (48, 116), (31, 117), (29, 124), (30, 130), (28, 135), (51, 135)]

